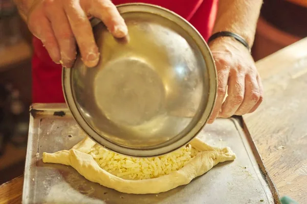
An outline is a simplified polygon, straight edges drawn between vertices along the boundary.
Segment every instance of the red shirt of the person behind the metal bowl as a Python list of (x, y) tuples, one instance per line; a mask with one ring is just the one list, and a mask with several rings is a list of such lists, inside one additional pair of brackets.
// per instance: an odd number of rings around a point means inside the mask
[[(204, 37), (211, 34), (218, 0), (113, 0), (115, 5), (140, 2), (158, 5), (187, 19)], [(64, 103), (61, 65), (55, 64), (39, 39), (33, 37), (32, 100), (33, 103)]]

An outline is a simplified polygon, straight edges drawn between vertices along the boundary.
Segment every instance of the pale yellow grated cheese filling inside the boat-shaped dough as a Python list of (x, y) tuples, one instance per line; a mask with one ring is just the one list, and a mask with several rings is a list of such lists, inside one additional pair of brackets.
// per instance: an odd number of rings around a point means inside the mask
[(167, 175), (181, 169), (198, 152), (189, 144), (160, 157), (131, 158), (118, 155), (96, 144), (89, 154), (102, 169), (113, 175), (128, 180), (143, 180)]

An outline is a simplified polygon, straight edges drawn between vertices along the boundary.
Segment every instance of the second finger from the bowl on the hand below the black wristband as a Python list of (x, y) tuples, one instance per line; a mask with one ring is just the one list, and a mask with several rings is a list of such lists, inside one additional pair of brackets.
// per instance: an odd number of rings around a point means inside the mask
[(223, 103), (220, 116), (223, 118), (231, 117), (244, 99), (245, 76), (238, 74), (236, 71), (230, 73), (228, 82), (228, 96)]

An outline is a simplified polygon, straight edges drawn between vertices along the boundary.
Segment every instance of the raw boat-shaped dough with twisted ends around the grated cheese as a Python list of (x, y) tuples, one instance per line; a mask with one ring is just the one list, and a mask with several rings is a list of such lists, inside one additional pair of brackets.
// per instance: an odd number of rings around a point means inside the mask
[(189, 184), (195, 177), (206, 173), (216, 164), (236, 158), (229, 147), (211, 147), (195, 138), (190, 142), (191, 147), (197, 150), (195, 156), (191, 157), (179, 170), (152, 179), (129, 180), (109, 173), (99, 166), (97, 159), (95, 161), (90, 155), (95, 145), (97, 144), (93, 140), (86, 137), (70, 150), (61, 150), (52, 154), (43, 152), (42, 161), (72, 166), (87, 180), (119, 192), (150, 194), (169, 191), (178, 186)]

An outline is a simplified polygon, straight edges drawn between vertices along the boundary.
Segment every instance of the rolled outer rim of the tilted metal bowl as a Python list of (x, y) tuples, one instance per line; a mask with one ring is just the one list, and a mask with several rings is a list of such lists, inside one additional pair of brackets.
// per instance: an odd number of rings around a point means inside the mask
[[(142, 148), (132, 148), (123, 145), (119, 145), (113, 141), (106, 139), (103, 135), (97, 133), (91, 125), (85, 120), (82, 116), (80, 110), (78, 109), (73, 91), (72, 91), (72, 69), (73, 68), (62, 68), (62, 90), (65, 98), (65, 102), (81, 128), (81, 130), (92, 140), (96, 143), (100, 144), (104, 148), (111, 150), (113, 152), (117, 152), (121, 155), (126, 155), (130, 157), (156, 157), (165, 155), (171, 151), (179, 149), (180, 147), (188, 144), (194, 137), (198, 135), (199, 132), (202, 131), (203, 127), (207, 123), (210, 115), (213, 112), (213, 108), (215, 105), (216, 97), (217, 97), (217, 72), (214, 63), (214, 59), (212, 53), (210, 52), (209, 46), (202, 37), (202, 35), (193, 27), (193, 25), (188, 22), (186, 19), (181, 17), (180, 15), (165, 9), (160, 6), (151, 5), (151, 4), (144, 4), (144, 3), (128, 3), (128, 4), (121, 4), (117, 6), (119, 12), (127, 13), (127, 12), (136, 12), (135, 7), (138, 8), (138, 12), (146, 12), (146, 10), (153, 10), (154, 12), (148, 12), (156, 15), (160, 15), (162, 17), (166, 17), (167, 15), (174, 18), (170, 19), (176, 22), (185, 32), (187, 32), (194, 40), (195, 44), (199, 47), (202, 57), (204, 58), (208, 77), (209, 77), (209, 92), (208, 92), (208, 100), (207, 106), (203, 109), (203, 113), (200, 115), (198, 122), (192, 126), (189, 130), (188, 134), (184, 137), (179, 138), (174, 143), (171, 143), (167, 146), (162, 147), (142, 147)], [(132, 9), (132, 10), (131, 10)], [(163, 15), (164, 14), (164, 15)], [(168, 18), (169, 19), (169, 18)], [(95, 27), (101, 20), (97, 18), (93, 18), (91, 20), (92, 27)], [(107, 134), (105, 134), (107, 135)], [(163, 143), (161, 143), (163, 144)], [(159, 144), (159, 145), (161, 145)]]

